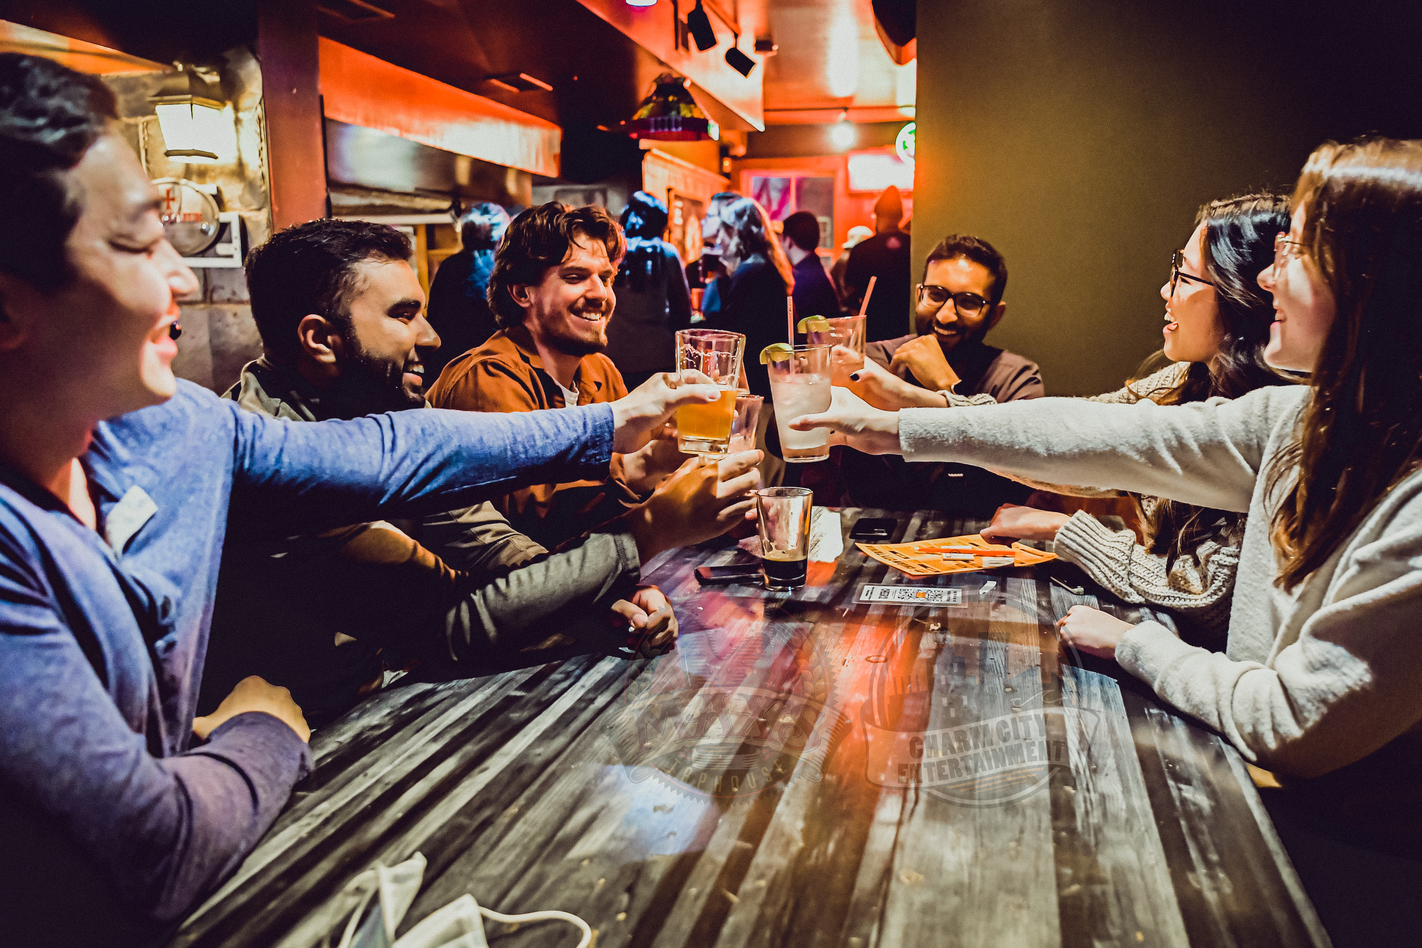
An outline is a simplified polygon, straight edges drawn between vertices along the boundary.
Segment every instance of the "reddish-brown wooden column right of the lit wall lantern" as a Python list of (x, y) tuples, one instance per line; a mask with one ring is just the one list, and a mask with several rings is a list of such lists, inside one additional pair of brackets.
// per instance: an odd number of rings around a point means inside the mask
[(259, 0), (257, 58), (266, 108), (274, 230), (326, 216), (321, 60), (313, 0)]

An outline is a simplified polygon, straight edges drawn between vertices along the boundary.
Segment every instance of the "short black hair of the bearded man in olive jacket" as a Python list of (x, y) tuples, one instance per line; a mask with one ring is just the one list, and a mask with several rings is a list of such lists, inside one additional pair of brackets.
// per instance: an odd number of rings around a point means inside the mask
[(300, 352), (297, 327), (307, 314), (350, 330), (356, 264), (371, 257), (408, 260), (410, 240), (383, 223), (307, 220), (247, 252), (247, 293), (262, 347), (280, 361)]

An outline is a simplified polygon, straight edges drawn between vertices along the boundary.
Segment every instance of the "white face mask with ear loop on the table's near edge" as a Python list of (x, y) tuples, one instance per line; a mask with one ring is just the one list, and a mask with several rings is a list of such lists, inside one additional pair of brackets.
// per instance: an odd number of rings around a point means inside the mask
[(577, 948), (587, 948), (593, 941), (592, 927), (577, 915), (560, 911), (503, 915), (482, 908), (474, 895), (461, 895), (395, 941), (395, 930), (415, 901), (424, 876), (425, 857), (415, 853), (395, 867), (377, 866), (348, 881), (337, 895), (353, 910), (338, 948), (488, 948), (481, 915), (502, 922), (556, 918), (583, 932)]

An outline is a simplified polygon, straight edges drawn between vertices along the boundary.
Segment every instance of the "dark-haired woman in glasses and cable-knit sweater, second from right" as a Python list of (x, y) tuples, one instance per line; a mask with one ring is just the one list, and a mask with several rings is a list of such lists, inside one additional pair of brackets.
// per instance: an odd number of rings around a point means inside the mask
[[(1170, 279), (1160, 287), (1166, 325), (1165, 347), (1158, 355), (1170, 364), (1091, 401), (1133, 404), (1149, 398), (1158, 405), (1182, 405), (1206, 398), (1239, 398), (1264, 385), (1287, 384), (1264, 364), (1274, 308), (1273, 298), (1256, 280), (1273, 260), (1274, 235), (1287, 227), (1288, 199), (1277, 195), (1244, 195), (1200, 208), (1194, 230), (1185, 249), (1175, 252)], [(940, 287), (923, 287), (930, 289)], [(970, 307), (977, 303), (967, 300)], [(1148, 364), (1152, 361), (1158, 360)], [(866, 370), (875, 372), (872, 367)], [(884, 378), (880, 372), (870, 381), (867, 372), (862, 374), (857, 389), (879, 408), (994, 404), (991, 398), (958, 395), (947, 387), (941, 392), (909, 392), (897, 378)], [(1022, 480), (1052, 493), (1121, 495)], [(1058, 556), (1079, 566), (1119, 598), (1169, 608), (1192, 641), (1223, 641), (1229, 631), (1244, 515), (1163, 497), (1135, 499), (1143, 544), (1136, 542), (1133, 532), (1111, 530), (1085, 512), (1068, 516), (1017, 505), (998, 509), (983, 536), (1054, 542)]]

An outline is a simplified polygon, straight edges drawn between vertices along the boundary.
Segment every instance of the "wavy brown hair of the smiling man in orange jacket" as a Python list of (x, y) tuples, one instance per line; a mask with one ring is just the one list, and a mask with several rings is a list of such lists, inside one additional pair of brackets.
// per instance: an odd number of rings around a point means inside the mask
[(621, 263), (627, 252), (621, 227), (606, 208), (597, 205), (567, 208), (550, 200), (513, 219), (493, 254), (493, 276), (489, 277), (489, 307), (499, 328), (523, 323), (523, 307), (509, 296), (509, 287), (542, 283), (549, 267), (567, 259), (579, 236), (602, 240), (613, 266)]

